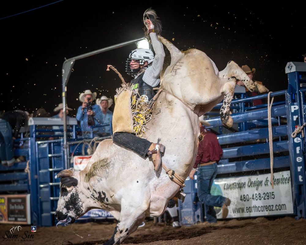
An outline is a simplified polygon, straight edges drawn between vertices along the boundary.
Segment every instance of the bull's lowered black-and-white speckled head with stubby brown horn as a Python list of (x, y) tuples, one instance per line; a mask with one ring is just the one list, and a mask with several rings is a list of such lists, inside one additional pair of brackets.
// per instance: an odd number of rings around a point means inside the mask
[(73, 168), (65, 169), (58, 173), (60, 182), (60, 196), (56, 209), (56, 217), (65, 225), (74, 223), (74, 221), (86, 213), (86, 208), (83, 205), (81, 197), (84, 195), (80, 189), (79, 170)]

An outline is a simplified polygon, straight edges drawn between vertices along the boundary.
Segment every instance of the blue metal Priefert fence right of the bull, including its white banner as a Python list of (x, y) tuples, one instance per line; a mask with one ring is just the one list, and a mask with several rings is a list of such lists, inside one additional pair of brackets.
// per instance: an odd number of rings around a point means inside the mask
[[(271, 107), (274, 189), (270, 179), (267, 101), (257, 106), (252, 104), (253, 100), (267, 100), (268, 95), (246, 97), (244, 92), (235, 93), (230, 106), (232, 128), (222, 125), (218, 112), (222, 103), (206, 114), (206, 121), (211, 125), (208, 128), (217, 134), (223, 149), (211, 193), (232, 199), (228, 218), (306, 217), (305, 137), (301, 132), (295, 138), (291, 136), (306, 121), (306, 63), (289, 62), (286, 73), (288, 89), (270, 94), (275, 101)], [(302, 131), (305, 135), (305, 128)], [(182, 224), (191, 225), (196, 222), (197, 189), (195, 180), (187, 178), (186, 183), (194, 187), (194, 192), (186, 193), (187, 203), (179, 201), (180, 220)], [(244, 188), (241, 183), (245, 183)], [(221, 209), (215, 210), (217, 217), (222, 217)], [(185, 215), (188, 212), (190, 215)]]

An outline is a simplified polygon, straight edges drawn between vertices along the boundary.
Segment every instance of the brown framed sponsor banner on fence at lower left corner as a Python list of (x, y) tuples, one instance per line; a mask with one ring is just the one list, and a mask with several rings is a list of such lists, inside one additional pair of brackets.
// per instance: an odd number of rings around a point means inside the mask
[(31, 224), (30, 194), (0, 196), (0, 223)]

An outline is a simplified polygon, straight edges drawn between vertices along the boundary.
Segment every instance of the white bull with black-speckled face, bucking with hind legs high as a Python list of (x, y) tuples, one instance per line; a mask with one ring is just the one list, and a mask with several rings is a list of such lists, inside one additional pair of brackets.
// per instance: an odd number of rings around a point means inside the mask
[[(182, 52), (160, 37), (171, 54), (160, 93), (147, 126), (147, 139), (161, 138), (166, 146), (162, 164), (186, 179), (194, 163), (199, 131), (199, 115), (210, 111), (224, 98), (222, 122), (232, 125), (229, 115), (236, 79), (250, 91), (267, 89), (254, 83), (234, 62), (218, 73), (210, 58), (197, 49)], [(196, 114), (196, 113), (197, 114)], [(61, 179), (57, 217), (66, 223), (89, 209), (110, 211), (118, 220), (114, 235), (105, 244), (120, 244), (147, 216), (159, 216), (179, 186), (160, 168), (155, 173), (152, 162), (132, 151), (102, 141), (83, 171), (64, 170)]]

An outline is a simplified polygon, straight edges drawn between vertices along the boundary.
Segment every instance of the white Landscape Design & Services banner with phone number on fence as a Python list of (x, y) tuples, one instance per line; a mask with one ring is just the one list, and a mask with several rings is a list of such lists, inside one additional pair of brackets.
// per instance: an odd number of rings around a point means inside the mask
[[(290, 171), (274, 173), (273, 179), (274, 189), (270, 174), (215, 179), (211, 194), (231, 199), (227, 218), (292, 214)], [(221, 208), (215, 210), (222, 218)]]

